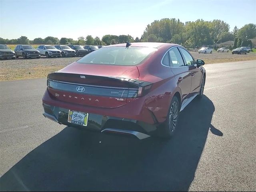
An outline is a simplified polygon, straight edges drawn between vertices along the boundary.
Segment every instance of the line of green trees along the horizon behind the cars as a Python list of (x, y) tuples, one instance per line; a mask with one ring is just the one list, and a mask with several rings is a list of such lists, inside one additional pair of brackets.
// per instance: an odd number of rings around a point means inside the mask
[(91, 35), (72, 38), (56, 38), (48, 36), (44, 39), (29, 40), (26, 36), (18, 39), (0, 38), (0, 44), (78, 44), (78, 45), (110, 45), (124, 42), (168, 42), (181, 44), (185, 47), (201, 47), (234, 40), (234, 47), (252, 46), (250, 39), (256, 37), (256, 25), (246, 24), (238, 29), (236, 26), (230, 32), (229, 24), (222, 20), (196, 20), (182, 23), (175, 18), (155, 20), (146, 26), (141, 38), (130, 35), (104, 35), (101, 39)]

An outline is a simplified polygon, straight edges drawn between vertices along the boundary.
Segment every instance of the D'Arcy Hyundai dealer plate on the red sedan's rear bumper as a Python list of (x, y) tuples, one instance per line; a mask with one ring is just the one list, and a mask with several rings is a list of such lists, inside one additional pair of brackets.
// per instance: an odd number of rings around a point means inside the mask
[(87, 126), (88, 116), (89, 116), (88, 113), (69, 110), (68, 111), (68, 122), (76, 124), (76, 125)]

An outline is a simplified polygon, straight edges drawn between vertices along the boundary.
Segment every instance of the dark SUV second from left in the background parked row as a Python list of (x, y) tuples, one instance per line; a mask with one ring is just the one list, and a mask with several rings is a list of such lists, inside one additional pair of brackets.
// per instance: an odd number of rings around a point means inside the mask
[(24, 59), (26, 59), (36, 57), (39, 59), (41, 56), (40, 52), (31, 45), (17, 45), (14, 49), (14, 52), (16, 54), (16, 58), (23, 57)]

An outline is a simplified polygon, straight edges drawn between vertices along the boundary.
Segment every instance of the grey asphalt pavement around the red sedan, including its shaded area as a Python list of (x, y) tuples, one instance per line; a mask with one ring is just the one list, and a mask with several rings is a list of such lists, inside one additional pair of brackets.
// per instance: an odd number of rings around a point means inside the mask
[(256, 60), (205, 68), (170, 140), (58, 125), (42, 116), (45, 78), (0, 82), (0, 190), (256, 190)]

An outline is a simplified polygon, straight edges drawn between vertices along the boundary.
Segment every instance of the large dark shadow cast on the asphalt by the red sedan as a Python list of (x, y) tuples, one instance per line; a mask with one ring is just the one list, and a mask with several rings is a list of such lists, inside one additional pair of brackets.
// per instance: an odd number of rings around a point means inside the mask
[(187, 191), (211, 125), (214, 104), (196, 98), (170, 140), (66, 127), (0, 178), (1, 191)]

